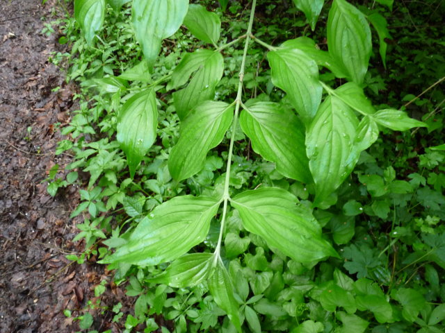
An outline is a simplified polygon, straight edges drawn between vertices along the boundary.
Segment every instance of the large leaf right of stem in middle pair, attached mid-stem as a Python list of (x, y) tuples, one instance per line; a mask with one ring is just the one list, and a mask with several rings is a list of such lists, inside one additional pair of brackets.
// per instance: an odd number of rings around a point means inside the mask
[(305, 128), (291, 110), (278, 103), (257, 102), (241, 112), (239, 121), (256, 153), (275, 162), (284, 176), (312, 182), (305, 151)]

